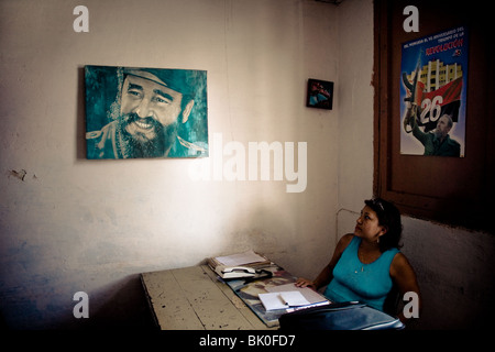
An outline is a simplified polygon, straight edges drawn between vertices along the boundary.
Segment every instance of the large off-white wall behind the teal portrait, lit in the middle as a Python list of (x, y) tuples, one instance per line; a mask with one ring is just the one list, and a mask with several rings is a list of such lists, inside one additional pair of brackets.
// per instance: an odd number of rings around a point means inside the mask
[[(89, 33), (73, 30), (78, 4), (89, 9)], [(339, 87), (338, 8), (309, 0), (2, 1), (0, 26), (7, 324), (78, 327), (105, 315), (132, 324), (138, 273), (212, 255), (254, 249), (296, 275), (327, 260), (339, 101), (323, 111), (305, 99), (307, 78)], [(307, 142), (305, 191), (286, 193), (285, 180), (195, 182), (189, 160), (87, 161), (84, 65), (206, 69), (210, 142), (216, 133), (245, 146)], [(84, 322), (73, 317), (79, 290), (89, 294)]]

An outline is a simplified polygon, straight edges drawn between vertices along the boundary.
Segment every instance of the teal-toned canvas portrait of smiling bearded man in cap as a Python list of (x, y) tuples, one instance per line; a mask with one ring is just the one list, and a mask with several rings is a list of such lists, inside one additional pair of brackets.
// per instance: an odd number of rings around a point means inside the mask
[(87, 158), (208, 156), (207, 72), (86, 66)]

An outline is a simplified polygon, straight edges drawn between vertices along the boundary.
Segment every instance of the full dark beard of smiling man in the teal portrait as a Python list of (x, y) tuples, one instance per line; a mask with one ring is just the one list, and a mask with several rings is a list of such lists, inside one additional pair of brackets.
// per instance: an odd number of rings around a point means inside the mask
[(146, 118), (145, 123), (152, 124), (155, 138), (148, 140), (143, 133), (136, 132), (139, 138), (130, 134), (125, 127), (134, 121), (143, 121), (135, 113), (128, 113), (119, 119), (117, 131), (118, 143), (124, 158), (163, 157), (166, 156), (174, 144), (177, 134), (177, 123), (164, 127), (153, 118)]

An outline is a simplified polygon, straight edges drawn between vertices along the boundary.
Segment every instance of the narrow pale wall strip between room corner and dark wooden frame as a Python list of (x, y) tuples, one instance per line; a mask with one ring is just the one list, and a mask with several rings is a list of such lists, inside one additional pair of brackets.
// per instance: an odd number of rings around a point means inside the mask
[(359, 212), (373, 196), (373, 2), (342, 2), (339, 34), (339, 209)]

